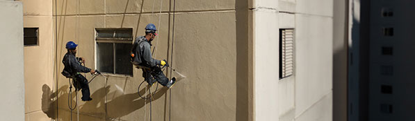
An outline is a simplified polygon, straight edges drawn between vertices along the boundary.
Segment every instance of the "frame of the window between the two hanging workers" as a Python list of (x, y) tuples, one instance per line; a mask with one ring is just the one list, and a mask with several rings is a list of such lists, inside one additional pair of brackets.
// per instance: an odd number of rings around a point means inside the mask
[[(99, 31), (100, 30), (113, 30), (114, 31), (114, 34), (113, 34), (113, 38), (107, 38), (107, 37), (102, 37), (102, 38), (100, 38), (100, 37), (98, 37), (98, 34), (99, 34)], [(115, 38), (115, 35), (116, 35), (116, 31), (117, 30), (131, 30), (131, 37), (129, 37), (129, 38)], [(116, 46), (116, 44), (131, 44), (131, 46), (132, 46), (132, 44), (133, 44), (133, 40), (134, 40), (134, 37), (133, 37), (133, 28), (95, 28), (94, 29), (94, 31), (95, 31), (95, 36), (94, 36), (94, 48), (95, 48), (95, 53), (94, 53), (94, 57), (95, 57), (95, 68), (98, 68), (98, 64), (97, 64), (97, 62), (99, 61), (98, 60), (98, 55), (97, 55), (97, 52), (98, 52), (98, 47), (97, 47), (97, 44), (98, 43), (108, 43), (108, 44), (113, 44), (113, 73), (108, 73), (108, 72), (101, 72), (101, 73), (103, 73), (104, 75), (112, 75), (112, 76), (120, 76), (120, 77), (133, 77), (133, 66), (131, 66), (131, 75), (129, 75), (129, 74), (122, 74), (122, 73), (117, 73), (116, 72), (116, 68), (117, 68), (117, 66), (116, 66), (116, 58), (117, 58), (117, 54), (116, 54), (116, 52), (115, 52), (115, 46)]]

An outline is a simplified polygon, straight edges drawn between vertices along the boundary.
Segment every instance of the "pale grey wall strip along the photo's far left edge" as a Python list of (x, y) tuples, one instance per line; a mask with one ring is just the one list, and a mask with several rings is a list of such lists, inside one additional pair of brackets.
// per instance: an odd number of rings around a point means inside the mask
[(0, 1), (0, 117), (24, 120), (23, 6), (19, 1)]

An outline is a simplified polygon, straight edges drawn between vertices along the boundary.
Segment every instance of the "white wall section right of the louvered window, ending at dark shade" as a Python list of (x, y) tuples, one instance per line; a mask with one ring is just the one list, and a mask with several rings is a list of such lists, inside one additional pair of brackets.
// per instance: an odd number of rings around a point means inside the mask
[(332, 120), (333, 1), (296, 2), (295, 118)]

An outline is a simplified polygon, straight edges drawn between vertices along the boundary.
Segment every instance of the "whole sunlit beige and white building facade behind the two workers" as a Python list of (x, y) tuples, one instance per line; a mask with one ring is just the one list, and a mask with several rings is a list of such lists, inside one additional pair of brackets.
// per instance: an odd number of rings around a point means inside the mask
[[(73, 120), (332, 120), (332, 0), (22, 3), (24, 28), (38, 28), (38, 44), (24, 47), (25, 120), (71, 119), (70, 86), (60, 75), (70, 40), (86, 66), (105, 75), (90, 82), (92, 101), (78, 93)], [(149, 23), (158, 28), (154, 58), (186, 76), (170, 90), (152, 86), (151, 102), (138, 95), (149, 92), (138, 89), (142, 72), (128, 63)], [(282, 30), (293, 30), (287, 77), (279, 76)]]

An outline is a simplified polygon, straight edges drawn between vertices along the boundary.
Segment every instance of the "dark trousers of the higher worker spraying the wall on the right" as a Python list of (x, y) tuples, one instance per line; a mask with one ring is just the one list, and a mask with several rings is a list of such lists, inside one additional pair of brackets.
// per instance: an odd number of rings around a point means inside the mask
[(167, 86), (169, 79), (165, 77), (163, 71), (158, 66), (154, 66), (151, 68), (151, 71), (148, 69), (143, 68), (143, 77), (145, 82), (149, 84), (153, 84), (154, 82), (158, 82), (163, 86)]

